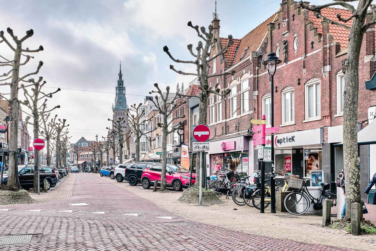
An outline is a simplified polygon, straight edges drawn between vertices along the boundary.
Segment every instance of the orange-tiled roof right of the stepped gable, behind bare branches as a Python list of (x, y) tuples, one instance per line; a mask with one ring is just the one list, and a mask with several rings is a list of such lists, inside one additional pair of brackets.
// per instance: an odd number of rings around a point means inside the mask
[[(327, 17), (338, 23), (346, 24), (346, 26), (351, 26), (353, 20), (349, 20), (346, 23), (338, 21), (337, 14), (340, 13), (341, 17), (346, 19), (351, 17), (351, 12), (347, 9), (340, 8), (323, 8), (321, 9), (321, 15)], [(317, 28), (317, 32), (323, 32), (323, 26), (321, 24), (322, 19), (315, 17), (312, 11), (309, 11), (309, 21), (313, 23), (313, 26)], [(340, 27), (335, 24), (329, 24), (329, 33), (333, 36), (335, 42), (341, 43), (341, 49), (349, 47), (349, 34), (350, 30)]]

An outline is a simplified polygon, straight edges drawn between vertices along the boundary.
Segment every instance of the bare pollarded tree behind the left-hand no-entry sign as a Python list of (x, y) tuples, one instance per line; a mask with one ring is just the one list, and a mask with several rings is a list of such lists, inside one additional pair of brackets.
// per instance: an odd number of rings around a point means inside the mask
[[(42, 81), (43, 78), (39, 77), (39, 80), (35, 82), (33, 78), (30, 78), (28, 81), (29, 83), (33, 83), (34, 87), (31, 89), (31, 94), (29, 94), (28, 90), (24, 88), (24, 96), (25, 101), (23, 104), (29, 108), (31, 111), (31, 114), (27, 113), (29, 116), (26, 117), (26, 124), (30, 124), (33, 126), (33, 135), (34, 139), (39, 138), (39, 123), (41, 122), (41, 116), (44, 114), (50, 113), (52, 110), (55, 110), (56, 108), (60, 108), (60, 106), (55, 106), (50, 110), (46, 110), (47, 107), (47, 98), (52, 98), (52, 95), (56, 92), (60, 91), (60, 88), (58, 88), (55, 92), (45, 93), (42, 91), (42, 87), (46, 83), (46, 81)], [(41, 106), (38, 105), (39, 101), (43, 98), (44, 102), (41, 104)], [(30, 116), (33, 118), (33, 122), (29, 122)], [(39, 156), (39, 151), (34, 150), (34, 153)], [(34, 170), (38, 170), (39, 168), (39, 158), (35, 158), (34, 160)], [(38, 187), (39, 177), (38, 172), (34, 172), (34, 188)], [(35, 189), (34, 189), (35, 190)]]

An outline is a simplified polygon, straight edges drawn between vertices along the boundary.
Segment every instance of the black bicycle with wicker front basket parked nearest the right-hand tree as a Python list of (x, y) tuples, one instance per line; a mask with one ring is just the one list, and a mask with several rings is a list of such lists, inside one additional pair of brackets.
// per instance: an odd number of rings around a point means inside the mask
[(321, 182), (320, 197), (313, 197), (307, 188), (307, 181), (311, 180), (310, 176), (311, 174), (303, 179), (290, 179), (288, 187), (294, 191), (285, 197), (286, 210), (294, 215), (302, 215), (308, 211), (309, 206), (313, 203), (314, 210), (322, 211), (323, 199), (329, 199), (331, 200), (331, 216), (337, 216), (337, 194), (333, 191), (327, 191), (330, 184)]

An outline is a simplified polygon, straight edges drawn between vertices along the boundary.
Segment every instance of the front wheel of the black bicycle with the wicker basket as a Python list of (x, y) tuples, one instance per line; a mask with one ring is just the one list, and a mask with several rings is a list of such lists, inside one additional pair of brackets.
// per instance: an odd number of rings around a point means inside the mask
[(290, 214), (302, 215), (308, 211), (309, 199), (304, 193), (292, 192), (285, 197), (285, 208)]

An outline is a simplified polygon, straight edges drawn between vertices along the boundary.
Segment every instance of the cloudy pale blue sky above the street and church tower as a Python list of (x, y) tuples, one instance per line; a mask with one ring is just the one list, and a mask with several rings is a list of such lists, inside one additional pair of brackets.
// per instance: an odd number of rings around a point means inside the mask
[[(220, 37), (232, 34), (242, 38), (273, 15), (280, 2), (217, 0)], [(311, 4), (328, 2), (312, 0)], [(120, 61), (128, 106), (142, 103), (154, 83), (162, 88), (175, 89), (177, 83), (187, 87), (193, 76), (179, 75), (169, 66), (174, 64), (176, 69), (188, 72), (195, 69), (174, 63), (162, 48), (167, 45), (175, 58), (191, 60), (186, 45), (195, 47), (199, 39), (187, 23), (208, 27), (214, 9), (215, 0), (0, 0), (0, 30), (8, 40), (12, 40), (6, 32), (8, 27), (18, 37), (34, 30), (24, 47), (37, 49), (42, 45), (44, 51), (33, 54), (35, 58), (21, 74), (35, 71), (41, 60), (44, 65), (34, 78), (44, 77), (44, 91), (65, 88), (47, 104), (61, 106), (53, 116), (67, 119), (74, 143), (81, 137), (94, 140), (95, 135), (106, 136)], [(5, 43), (0, 44), (0, 55), (12, 58), (11, 52)], [(0, 69), (0, 75), (3, 72), (5, 69)], [(9, 87), (0, 86), (0, 93), (8, 92)], [(22, 93), (20, 99), (24, 100)]]

